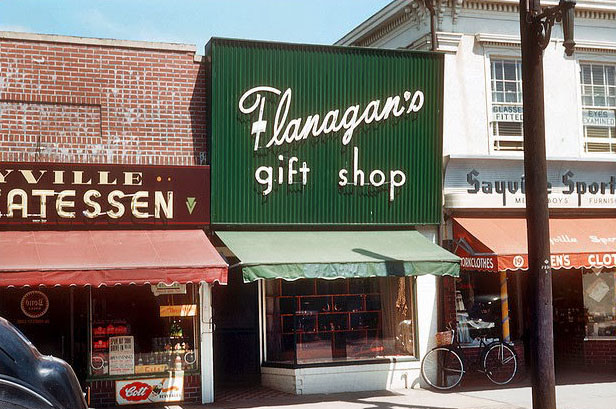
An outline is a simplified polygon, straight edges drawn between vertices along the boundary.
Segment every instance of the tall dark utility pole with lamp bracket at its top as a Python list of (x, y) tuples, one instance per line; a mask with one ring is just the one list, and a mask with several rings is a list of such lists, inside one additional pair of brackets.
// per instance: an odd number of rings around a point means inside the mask
[(542, 11), (540, 0), (520, 0), (533, 409), (556, 409), (543, 50), (550, 42), (554, 21), (562, 20), (565, 52), (573, 53), (574, 6), (575, 1), (560, 0), (558, 6)]

